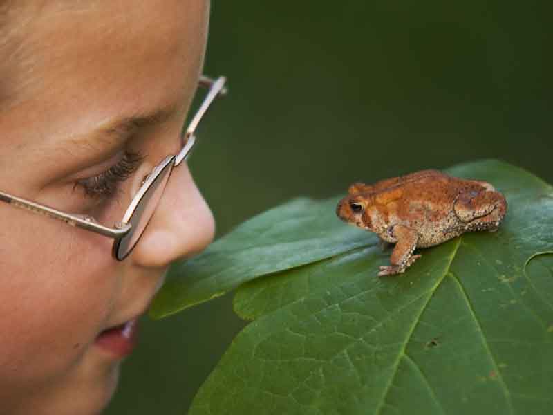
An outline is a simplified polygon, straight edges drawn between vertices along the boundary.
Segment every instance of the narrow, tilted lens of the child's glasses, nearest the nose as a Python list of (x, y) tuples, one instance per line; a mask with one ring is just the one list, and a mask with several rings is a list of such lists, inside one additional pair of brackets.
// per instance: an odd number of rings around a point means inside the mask
[(158, 176), (150, 183), (128, 221), (128, 223), (132, 225), (131, 230), (122, 237), (122, 239), (115, 241), (113, 250), (115, 252), (115, 257), (119, 261), (122, 261), (131, 253), (142, 236), (144, 229), (146, 229), (146, 226), (153, 216), (153, 212), (155, 212), (158, 207), (158, 203), (165, 190), (165, 185), (167, 185), (169, 176), (171, 176), (173, 166), (174, 162), (173, 159), (171, 159), (171, 163), (167, 163), (167, 165), (158, 172)]

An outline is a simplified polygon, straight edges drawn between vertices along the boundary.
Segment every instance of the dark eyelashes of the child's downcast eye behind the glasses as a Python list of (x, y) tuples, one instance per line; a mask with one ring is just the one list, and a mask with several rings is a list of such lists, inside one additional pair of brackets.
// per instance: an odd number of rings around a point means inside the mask
[(142, 154), (125, 151), (119, 163), (97, 176), (77, 181), (75, 187), (82, 187), (85, 196), (91, 199), (111, 199), (117, 194), (120, 183), (136, 172), (142, 160)]

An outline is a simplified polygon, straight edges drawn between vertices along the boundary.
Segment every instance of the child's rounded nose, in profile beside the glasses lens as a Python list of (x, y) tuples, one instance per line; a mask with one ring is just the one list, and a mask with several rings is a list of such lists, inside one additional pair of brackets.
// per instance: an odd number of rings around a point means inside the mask
[(163, 267), (204, 250), (213, 240), (215, 221), (185, 163), (174, 169), (132, 261)]

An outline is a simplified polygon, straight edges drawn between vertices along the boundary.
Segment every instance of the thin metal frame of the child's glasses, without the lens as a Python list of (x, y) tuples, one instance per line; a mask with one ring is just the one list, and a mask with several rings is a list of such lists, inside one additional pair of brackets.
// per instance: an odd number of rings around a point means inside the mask
[[(195, 133), (200, 120), (203, 118), (203, 116), (207, 112), (207, 109), (210, 107), (216, 97), (224, 96), (227, 94), (227, 88), (225, 87), (226, 81), (227, 79), (224, 76), (218, 77), (216, 79), (212, 79), (205, 75), (200, 76), (198, 86), (209, 87), (209, 91), (207, 92), (207, 95), (205, 95), (202, 104), (200, 104), (198, 111), (196, 111), (196, 114), (190, 120), (185, 133), (181, 135), (180, 139), (183, 145), (182, 149), (178, 152), (178, 154), (171, 154), (165, 157), (161, 163), (159, 163), (156, 167), (152, 169), (150, 174), (148, 174), (142, 182), (142, 185), (140, 185), (138, 192), (136, 192), (136, 194), (133, 196), (133, 199), (131, 200), (131, 203), (129, 203), (128, 208), (126, 208), (123, 219), (120, 222), (115, 222), (113, 224), (113, 228), (101, 225), (92, 216), (62, 212), (61, 210), (50, 208), (49, 206), (42, 205), (41, 203), (33, 202), (28, 199), (24, 199), (19, 196), (15, 196), (13, 194), (2, 191), (0, 191), (0, 201), (15, 206), (16, 208), (21, 208), (33, 213), (48, 216), (53, 219), (58, 219), (59, 221), (67, 223), (68, 225), (76, 226), (77, 228), (82, 228), (84, 230), (100, 234), (104, 237), (115, 239), (113, 243), (112, 255), (118, 261), (122, 261), (124, 258), (119, 259), (118, 256), (115, 255), (115, 246), (117, 245), (118, 240), (122, 239), (131, 231), (132, 225), (130, 223), (127, 223), (127, 221), (131, 219), (131, 216), (133, 216), (136, 208), (138, 207), (138, 205), (140, 205), (142, 197), (144, 196), (144, 194), (147, 193), (151, 185), (155, 183), (158, 175), (160, 174), (160, 172), (162, 172), (163, 169), (165, 169), (165, 167), (167, 167), (169, 161), (171, 159), (173, 160), (174, 165), (173, 167), (171, 167), (171, 169), (174, 169), (175, 167), (178, 167), (178, 165), (180, 165), (183, 160), (187, 160), (192, 147), (194, 147), (194, 144), (196, 143)], [(145, 228), (146, 227), (144, 227), (144, 229)], [(142, 233), (143, 232), (144, 230), (142, 230)]]

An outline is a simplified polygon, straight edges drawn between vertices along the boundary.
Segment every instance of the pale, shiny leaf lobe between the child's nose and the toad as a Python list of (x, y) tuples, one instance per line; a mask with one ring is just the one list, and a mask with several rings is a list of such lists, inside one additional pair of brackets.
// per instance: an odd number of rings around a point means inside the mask
[(171, 267), (150, 315), (165, 317), (219, 297), (261, 275), (310, 264), (376, 243), (344, 226), (337, 199), (296, 199), (255, 216), (213, 243), (202, 255)]

